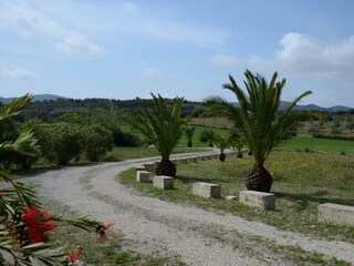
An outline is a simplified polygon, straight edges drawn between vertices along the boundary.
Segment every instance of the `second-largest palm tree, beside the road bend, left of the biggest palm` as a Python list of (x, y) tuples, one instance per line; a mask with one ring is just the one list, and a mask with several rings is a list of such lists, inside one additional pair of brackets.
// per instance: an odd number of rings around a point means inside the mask
[(170, 104), (159, 94), (153, 96), (153, 105), (138, 100), (139, 109), (126, 111), (126, 121), (137, 129), (155, 145), (162, 155), (162, 161), (156, 167), (157, 175), (176, 176), (176, 165), (169, 161), (169, 156), (177, 145), (181, 134), (184, 121), (180, 117), (183, 98), (175, 98)]

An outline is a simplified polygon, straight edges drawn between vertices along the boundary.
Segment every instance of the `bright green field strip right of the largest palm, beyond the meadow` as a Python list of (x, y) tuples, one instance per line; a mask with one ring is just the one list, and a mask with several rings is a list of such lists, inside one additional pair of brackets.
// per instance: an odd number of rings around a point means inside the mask
[(293, 137), (282, 143), (278, 149), (284, 151), (329, 152), (354, 155), (353, 141), (315, 139), (311, 136)]

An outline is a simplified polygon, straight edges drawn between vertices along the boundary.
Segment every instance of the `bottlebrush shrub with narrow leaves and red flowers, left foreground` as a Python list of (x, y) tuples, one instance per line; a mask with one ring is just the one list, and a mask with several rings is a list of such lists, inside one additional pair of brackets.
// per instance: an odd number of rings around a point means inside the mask
[[(31, 99), (30, 95), (24, 95), (2, 108), (0, 121), (20, 112), (28, 106)], [(39, 154), (39, 146), (33, 133), (27, 131), (12, 142), (0, 142), (0, 151), (34, 156)], [(0, 190), (0, 265), (73, 265), (81, 250), (66, 256), (51, 249), (48, 232), (54, 228), (54, 224), (66, 223), (88, 232), (96, 232), (101, 239), (105, 239), (105, 231), (112, 226), (85, 217), (64, 219), (42, 209), (35, 193), (24, 184), (13, 181), (3, 168), (0, 168), (0, 180), (4, 183)]]

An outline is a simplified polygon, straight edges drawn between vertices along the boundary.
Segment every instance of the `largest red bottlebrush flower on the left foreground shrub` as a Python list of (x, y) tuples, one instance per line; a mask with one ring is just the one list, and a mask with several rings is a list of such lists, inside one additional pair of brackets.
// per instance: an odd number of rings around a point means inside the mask
[(25, 208), (22, 218), (25, 224), (31, 243), (46, 242), (45, 232), (54, 228), (54, 223), (50, 221), (52, 215), (48, 211), (39, 211), (35, 206)]

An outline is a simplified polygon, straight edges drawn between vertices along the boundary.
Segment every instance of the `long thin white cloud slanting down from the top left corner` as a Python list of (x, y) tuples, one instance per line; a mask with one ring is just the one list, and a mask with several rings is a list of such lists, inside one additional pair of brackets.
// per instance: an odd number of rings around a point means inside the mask
[(50, 43), (61, 52), (88, 55), (105, 54), (105, 50), (100, 45), (41, 16), (30, 6), (4, 1), (0, 6), (0, 24), (4, 30), (18, 31), (25, 38)]

